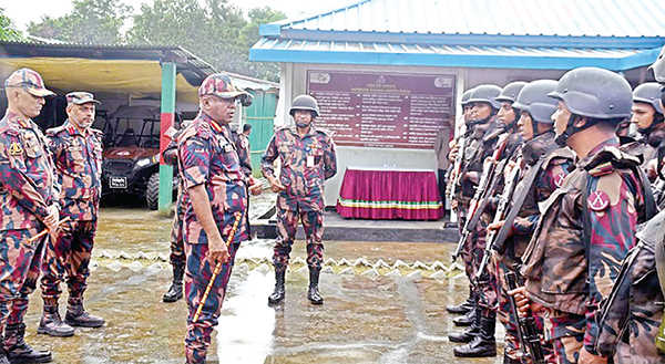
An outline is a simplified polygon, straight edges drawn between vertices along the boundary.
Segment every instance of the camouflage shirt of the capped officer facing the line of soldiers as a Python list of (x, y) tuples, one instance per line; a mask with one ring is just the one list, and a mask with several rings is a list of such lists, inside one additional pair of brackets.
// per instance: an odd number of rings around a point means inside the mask
[[(234, 214), (241, 212), (243, 219), (234, 242), (246, 240), (246, 177), (228, 129), (201, 113), (177, 138), (177, 154), (180, 174), (187, 194), (185, 198), (190, 198), (188, 190), (192, 187), (204, 185), (222, 237), (228, 236), (235, 220)], [(185, 207), (183, 231), (188, 243), (207, 243), (207, 237), (191, 201)]]

